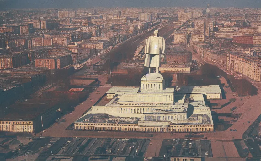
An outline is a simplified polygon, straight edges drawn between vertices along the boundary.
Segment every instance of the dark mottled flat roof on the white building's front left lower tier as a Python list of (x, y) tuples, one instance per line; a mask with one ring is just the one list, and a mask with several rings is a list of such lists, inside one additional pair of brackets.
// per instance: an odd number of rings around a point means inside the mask
[(140, 118), (116, 117), (108, 114), (87, 114), (75, 122), (82, 123), (107, 123), (107, 124), (137, 124)]

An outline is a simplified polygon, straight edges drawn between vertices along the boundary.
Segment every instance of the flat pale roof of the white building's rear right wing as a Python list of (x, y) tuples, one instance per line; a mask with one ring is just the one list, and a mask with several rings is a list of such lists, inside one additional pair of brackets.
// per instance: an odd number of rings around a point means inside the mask
[(193, 94), (207, 94), (207, 93), (222, 93), (218, 85), (209, 86), (181, 86), (177, 89), (177, 93), (193, 93)]

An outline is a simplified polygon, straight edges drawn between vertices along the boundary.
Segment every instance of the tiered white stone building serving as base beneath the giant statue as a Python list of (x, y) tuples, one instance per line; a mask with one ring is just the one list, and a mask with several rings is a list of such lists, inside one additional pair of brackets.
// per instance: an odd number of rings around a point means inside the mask
[(206, 91), (207, 94), (218, 91), (216, 86), (213, 91), (211, 88), (174, 95), (175, 88), (166, 88), (161, 74), (147, 74), (141, 78), (140, 87), (112, 87), (74, 122), (74, 129), (213, 132), (211, 111), (203, 97)]

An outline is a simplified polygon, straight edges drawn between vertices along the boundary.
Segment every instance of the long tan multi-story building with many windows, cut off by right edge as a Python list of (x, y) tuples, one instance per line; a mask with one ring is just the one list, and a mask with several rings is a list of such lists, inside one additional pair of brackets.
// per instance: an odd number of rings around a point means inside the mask
[(231, 52), (228, 62), (232, 71), (246, 75), (253, 80), (261, 81), (261, 62), (258, 57)]

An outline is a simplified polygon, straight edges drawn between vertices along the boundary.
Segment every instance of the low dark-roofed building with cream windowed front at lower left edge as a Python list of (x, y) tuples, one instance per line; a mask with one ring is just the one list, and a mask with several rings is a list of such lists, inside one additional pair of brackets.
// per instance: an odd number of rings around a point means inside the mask
[(57, 119), (57, 99), (28, 99), (13, 104), (0, 116), (0, 131), (37, 133)]

